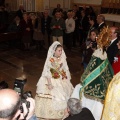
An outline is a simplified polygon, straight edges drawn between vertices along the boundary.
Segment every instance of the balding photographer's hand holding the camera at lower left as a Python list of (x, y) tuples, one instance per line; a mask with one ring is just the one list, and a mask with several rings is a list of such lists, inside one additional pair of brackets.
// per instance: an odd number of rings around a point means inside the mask
[[(27, 117), (26, 117), (26, 120), (30, 119), (34, 115), (35, 100), (33, 98), (27, 98), (26, 101), (30, 102), (30, 108), (27, 108), (25, 103), (22, 104), (22, 106), (23, 106), (23, 113), (20, 113), (19, 120), (24, 119), (26, 114), (28, 114)], [(29, 109), (29, 113), (28, 113), (28, 109)]]

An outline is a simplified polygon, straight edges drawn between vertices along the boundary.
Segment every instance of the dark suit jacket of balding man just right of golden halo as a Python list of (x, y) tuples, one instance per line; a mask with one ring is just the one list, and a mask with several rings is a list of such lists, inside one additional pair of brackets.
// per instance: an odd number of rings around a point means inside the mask
[(117, 47), (118, 39), (116, 39), (108, 48), (107, 48), (107, 56), (109, 62), (112, 64), (114, 61), (114, 57), (116, 56), (118, 52), (118, 47)]

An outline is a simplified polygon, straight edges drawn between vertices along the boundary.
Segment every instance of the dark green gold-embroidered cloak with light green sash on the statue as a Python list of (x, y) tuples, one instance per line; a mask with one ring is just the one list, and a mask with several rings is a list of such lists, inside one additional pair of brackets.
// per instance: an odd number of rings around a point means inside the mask
[(85, 72), (81, 76), (82, 88), (85, 96), (103, 101), (106, 90), (113, 78), (113, 70), (108, 59), (101, 60), (92, 56)]

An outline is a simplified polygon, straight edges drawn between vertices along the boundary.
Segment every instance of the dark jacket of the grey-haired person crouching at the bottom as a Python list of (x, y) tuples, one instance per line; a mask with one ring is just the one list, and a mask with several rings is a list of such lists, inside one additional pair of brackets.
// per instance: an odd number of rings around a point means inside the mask
[(83, 108), (79, 114), (68, 116), (64, 120), (95, 120), (89, 109)]

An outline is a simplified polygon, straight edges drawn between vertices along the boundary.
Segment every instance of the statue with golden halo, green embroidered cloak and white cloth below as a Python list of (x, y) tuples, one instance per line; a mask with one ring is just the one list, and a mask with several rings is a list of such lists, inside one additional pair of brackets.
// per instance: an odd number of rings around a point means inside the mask
[[(109, 45), (109, 29), (104, 28), (97, 38), (98, 48), (81, 76), (81, 84), (77, 85), (72, 97), (80, 97), (82, 106), (91, 110), (95, 120), (100, 120), (106, 90), (113, 78), (113, 70), (108, 61), (105, 48)], [(79, 89), (79, 94), (77, 93)], [(77, 95), (76, 95), (77, 94)]]

